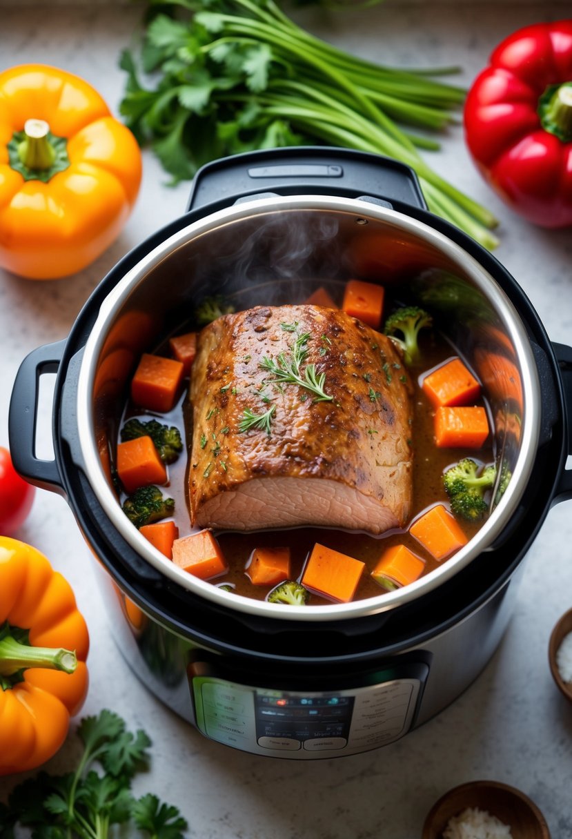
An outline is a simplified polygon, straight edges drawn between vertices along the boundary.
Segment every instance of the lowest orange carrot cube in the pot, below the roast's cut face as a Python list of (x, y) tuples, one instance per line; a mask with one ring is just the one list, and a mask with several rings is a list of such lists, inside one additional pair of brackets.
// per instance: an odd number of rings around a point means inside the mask
[(325, 545), (314, 545), (304, 569), (302, 585), (341, 603), (356, 593), (364, 562), (341, 554)]

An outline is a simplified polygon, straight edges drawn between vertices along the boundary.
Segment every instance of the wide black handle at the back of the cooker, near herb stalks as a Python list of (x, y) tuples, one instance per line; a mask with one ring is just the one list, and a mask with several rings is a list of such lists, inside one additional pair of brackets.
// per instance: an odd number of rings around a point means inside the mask
[(187, 212), (224, 201), (271, 195), (343, 195), (407, 212), (427, 209), (413, 169), (355, 149), (299, 146), (262, 149), (215, 160), (196, 173)]

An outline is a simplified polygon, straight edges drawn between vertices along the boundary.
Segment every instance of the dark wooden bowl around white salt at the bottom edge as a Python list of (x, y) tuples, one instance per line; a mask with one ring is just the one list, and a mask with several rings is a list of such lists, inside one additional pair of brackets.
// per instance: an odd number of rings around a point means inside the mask
[(450, 789), (429, 810), (422, 839), (443, 839), (449, 820), (467, 807), (497, 816), (510, 827), (512, 839), (550, 839), (549, 826), (537, 805), (520, 790), (497, 781), (472, 781)]

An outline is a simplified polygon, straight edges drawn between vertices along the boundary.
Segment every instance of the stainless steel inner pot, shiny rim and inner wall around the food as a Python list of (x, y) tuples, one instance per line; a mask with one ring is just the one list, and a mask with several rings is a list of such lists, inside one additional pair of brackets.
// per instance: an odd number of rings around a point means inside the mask
[[(418, 302), (484, 383), (507, 491), (470, 543), (400, 590), (320, 607), (281, 607), (229, 595), (160, 554), (127, 520), (108, 470), (127, 381), (141, 352), (180, 330), (205, 294), (237, 307), (301, 303), (352, 276)], [(497, 366), (495, 359), (497, 359)], [(501, 362), (501, 360), (504, 360)], [(512, 374), (507, 378), (509, 363)], [(512, 301), (465, 249), (422, 221), (364, 199), (273, 195), (245, 200), (183, 227), (148, 252), (103, 300), (77, 379), (83, 469), (101, 508), (143, 560), (178, 586), (245, 615), (288, 621), (365, 617), (450, 579), (502, 538), (537, 456), (541, 392), (527, 331)]]

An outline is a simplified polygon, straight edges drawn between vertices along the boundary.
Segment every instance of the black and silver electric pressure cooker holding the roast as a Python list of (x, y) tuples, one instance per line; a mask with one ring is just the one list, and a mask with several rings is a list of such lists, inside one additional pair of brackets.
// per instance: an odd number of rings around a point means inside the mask
[[(283, 305), (321, 286), (335, 295), (351, 277), (429, 309), (476, 371), (506, 492), (436, 571), (367, 600), (279, 606), (185, 574), (113, 488), (109, 453), (140, 353), (180, 331), (205, 294)], [(549, 341), (515, 279), (427, 210), (408, 167), (346, 149), (263, 151), (201, 169), (185, 213), (112, 268), (65, 341), (24, 359), (10, 449), (23, 477), (70, 504), (117, 644), (150, 690), (219, 743), (331, 758), (402, 737), (491, 658), (523, 557), (572, 495), (571, 370), (572, 350)], [(44, 373), (57, 373), (51, 461), (34, 455)]]

